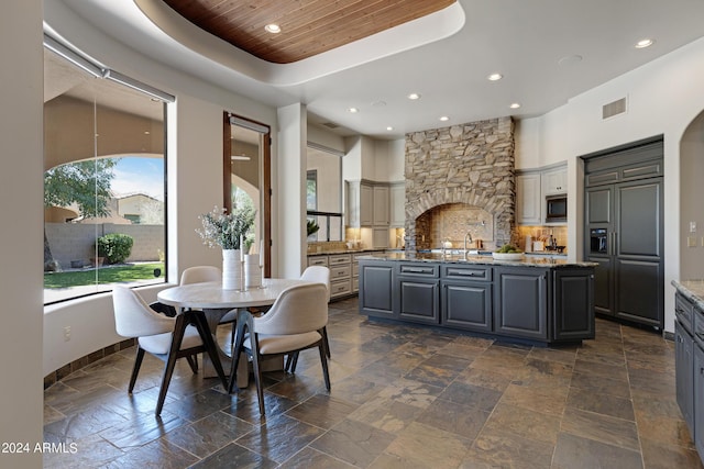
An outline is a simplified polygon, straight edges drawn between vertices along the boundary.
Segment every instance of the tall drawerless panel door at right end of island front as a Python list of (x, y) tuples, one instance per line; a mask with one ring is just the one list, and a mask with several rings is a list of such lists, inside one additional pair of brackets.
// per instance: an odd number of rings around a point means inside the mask
[(535, 340), (548, 339), (549, 270), (495, 269), (494, 332)]

